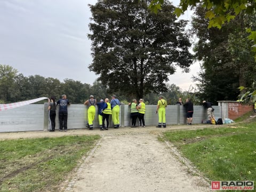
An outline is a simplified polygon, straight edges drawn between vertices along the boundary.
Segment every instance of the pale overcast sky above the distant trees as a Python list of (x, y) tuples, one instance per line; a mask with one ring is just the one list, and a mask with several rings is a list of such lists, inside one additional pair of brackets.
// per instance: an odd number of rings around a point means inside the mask
[[(63, 82), (69, 78), (92, 84), (97, 76), (89, 71), (91, 41), (87, 38), (96, 0), (0, 0), (0, 64), (17, 69), (24, 76), (41, 75)], [(174, 5), (179, 0), (173, 1)], [(189, 13), (183, 19), (189, 19)], [(170, 84), (183, 91), (192, 85), (191, 72), (178, 68)]]

